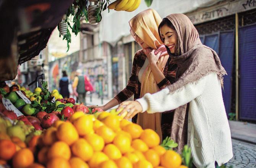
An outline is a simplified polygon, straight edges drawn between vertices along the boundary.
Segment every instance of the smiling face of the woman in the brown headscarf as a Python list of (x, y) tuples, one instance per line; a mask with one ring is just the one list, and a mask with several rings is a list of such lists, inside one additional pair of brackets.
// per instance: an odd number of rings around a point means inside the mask
[(160, 33), (164, 44), (170, 48), (171, 53), (175, 53), (175, 47), (177, 45), (175, 30), (165, 24), (160, 28)]

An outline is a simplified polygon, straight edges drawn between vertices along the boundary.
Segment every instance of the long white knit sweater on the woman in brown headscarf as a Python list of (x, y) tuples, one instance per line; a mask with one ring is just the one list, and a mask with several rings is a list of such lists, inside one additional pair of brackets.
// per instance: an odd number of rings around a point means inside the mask
[(230, 128), (222, 99), (220, 81), (211, 73), (169, 94), (165, 88), (137, 99), (143, 111), (154, 113), (173, 110), (190, 102), (188, 145), (197, 168), (215, 168), (233, 157)]

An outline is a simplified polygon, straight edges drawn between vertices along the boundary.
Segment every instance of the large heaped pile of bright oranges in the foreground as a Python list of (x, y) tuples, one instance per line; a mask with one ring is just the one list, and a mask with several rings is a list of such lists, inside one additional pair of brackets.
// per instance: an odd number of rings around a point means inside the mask
[(47, 168), (184, 168), (159, 143), (155, 131), (120, 116), (76, 112), (41, 135), (35, 160)]

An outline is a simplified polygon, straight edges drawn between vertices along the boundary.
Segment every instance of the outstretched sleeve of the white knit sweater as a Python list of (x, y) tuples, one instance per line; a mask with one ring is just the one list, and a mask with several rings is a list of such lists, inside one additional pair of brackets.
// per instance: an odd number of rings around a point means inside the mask
[(143, 111), (147, 111), (147, 113), (173, 110), (201, 95), (207, 76), (181, 87), (172, 94), (169, 93), (169, 88), (165, 88), (154, 94), (147, 93), (136, 101), (141, 104)]

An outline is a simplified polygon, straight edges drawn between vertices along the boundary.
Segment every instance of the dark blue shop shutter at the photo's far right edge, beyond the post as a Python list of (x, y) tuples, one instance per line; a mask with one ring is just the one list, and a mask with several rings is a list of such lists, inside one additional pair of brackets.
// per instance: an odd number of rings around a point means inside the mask
[(256, 24), (239, 28), (239, 118), (256, 121)]

